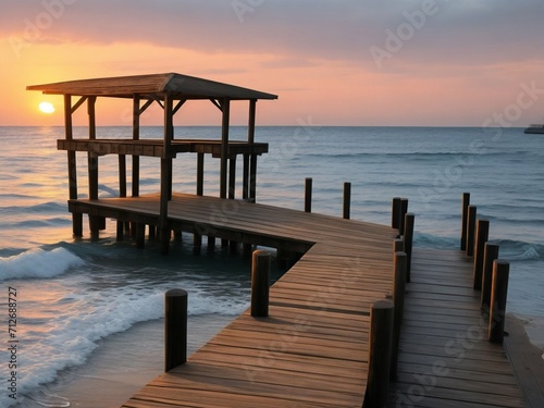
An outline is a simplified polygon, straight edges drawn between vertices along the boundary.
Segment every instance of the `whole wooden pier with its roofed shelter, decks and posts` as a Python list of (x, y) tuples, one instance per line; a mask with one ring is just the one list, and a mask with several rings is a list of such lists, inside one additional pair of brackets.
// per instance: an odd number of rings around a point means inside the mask
[[(407, 199), (393, 200), (391, 226), (349, 220), (348, 183), (342, 219), (311, 213), (311, 180), (306, 183), (305, 211), (256, 203), (257, 158), (268, 152), (267, 144), (255, 143), (256, 103), (275, 95), (180, 74), (28, 89), (64, 96), (66, 137), (58, 148), (67, 151), (74, 235), (83, 235), (83, 214), (88, 214), (92, 237), (111, 218), (118, 238), (131, 225), (138, 247), (145, 244), (146, 228), (150, 239), (158, 231), (163, 252), (172, 231), (188, 232), (195, 235), (196, 251), (207, 236), (210, 249), (221, 238), (232, 249), (238, 244), (245, 250), (265, 246), (296, 260), (263, 290), (269, 295), (260, 302), (265, 313), (246, 311), (188, 359), (170, 343), (166, 356), (181, 360), (166, 361), (168, 372), (124, 408), (526, 406), (500, 344), (508, 264), (496, 259), (498, 249), (495, 255), (487, 251), (489, 222), (477, 219), (468, 195), (461, 227), (467, 254), (412, 252), (415, 215), (407, 213)], [(79, 97), (75, 104), (73, 96)], [(132, 100), (132, 138), (97, 138), (98, 97)], [(175, 113), (194, 99), (210, 100), (221, 111), (221, 139), (174, 137)], [(249, 101), (247, 141), (228, 140), (230, 104), (235, 100)], [(164, 137), (140, 139), (140, 115), (154, 102), (164, 109)], [(75, 139), (72, 115), (84, 103), (89, 137)], [(85, 199), (77, 189), (77, 151), (87, 152)], [(198, 154), (195, 195), (172, 190), (172, 160), (181, 153)], [(103, 154), (119, 157), (119, 198), (98, 196)], [(220, 197), (205, 195), (205, 154), (220, 159)], [(131, 197), (126, 156), (132, 157)], [(160, 159), (157, 194), (139, 194), (141, 156)], [(242, 199), (234, 196), (237, 156), (244, 160)]]

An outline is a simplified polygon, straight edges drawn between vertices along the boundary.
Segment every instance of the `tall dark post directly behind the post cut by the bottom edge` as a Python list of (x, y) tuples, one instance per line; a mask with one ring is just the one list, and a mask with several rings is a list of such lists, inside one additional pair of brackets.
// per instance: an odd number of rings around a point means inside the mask
[(395, 305), (395, 318), (393, 326), (393, 350), (391, 355), (391, 380), (395, 380), (397, 376), (398, 347), (400, 344), (400, 326), (403, 325), (405, 310), (406, 267), (408, 260), (405, 252), (395, 252), (394, 257), (393, 302)]

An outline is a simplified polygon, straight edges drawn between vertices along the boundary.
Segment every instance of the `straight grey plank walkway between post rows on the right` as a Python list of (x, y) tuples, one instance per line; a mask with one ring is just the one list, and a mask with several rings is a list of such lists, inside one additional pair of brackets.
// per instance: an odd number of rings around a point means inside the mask
[(390, 408), (526, 407), (500, 344), (487, 342), (473, 259), (415, 249)]

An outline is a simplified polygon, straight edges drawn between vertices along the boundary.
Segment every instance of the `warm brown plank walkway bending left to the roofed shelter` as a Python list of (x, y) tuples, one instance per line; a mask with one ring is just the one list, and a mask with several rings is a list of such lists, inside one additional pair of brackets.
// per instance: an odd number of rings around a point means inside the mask
[[(71, 200), (70, 208), (154, 224), (159, 197)], [(271, 287), (269, 318), (243, 313), (123, 407), (361, 407), (369, 311), (392, 292), (396, 231), (191, 195), (169, 202), (169, 224), (307, 252)]]

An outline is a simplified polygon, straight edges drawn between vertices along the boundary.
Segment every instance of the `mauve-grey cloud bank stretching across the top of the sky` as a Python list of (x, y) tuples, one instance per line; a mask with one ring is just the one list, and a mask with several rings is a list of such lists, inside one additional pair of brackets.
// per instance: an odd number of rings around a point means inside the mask
[(481, 65), (542, 53), (544, 3), (537, 0), (21, 0), (5, 7), (0, 33), (49, 44), (139, 42), (207, 53), (275, 53), (280, 65), (344, 60), (375, 69), (369, 49), (384, 48), (387, 30), (410, 24), (407, 15), (421, 13), (424, 4), (437, 12), (425, 15), (386, 69)]

